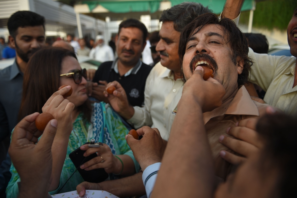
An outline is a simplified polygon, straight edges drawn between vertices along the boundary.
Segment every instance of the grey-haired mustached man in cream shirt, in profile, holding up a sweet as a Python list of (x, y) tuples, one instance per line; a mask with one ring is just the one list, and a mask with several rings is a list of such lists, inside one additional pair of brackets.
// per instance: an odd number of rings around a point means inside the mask
[[(238, 23), (240, 8), (241, 4), (238, 4), (238, 1), (228, 0), (222, 15)], [(105, 96), (108, 96), (111, 106), (136, 129), (144, 125), (156, 127), (162, 138), (168, 140), (184, 85), (178, 56), (179, 37), (187, 24), (197, 16), (210, 12), (208, 7), (194, 2), (184, 2), (163, 11), (160, 18), (160, 40), (156, 46), (161, 61), (154, 66), (146, 79), (144, 107), (129, 105), (121, 83), (112, 82), (118, 90), (114, 95), (106, 93)]]

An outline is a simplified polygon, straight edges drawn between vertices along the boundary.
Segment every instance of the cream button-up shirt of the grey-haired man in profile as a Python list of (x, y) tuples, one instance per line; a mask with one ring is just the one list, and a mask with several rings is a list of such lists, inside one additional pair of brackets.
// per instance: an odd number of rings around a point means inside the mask
[(143, 126), (155, 127), (161, 137), (168, 140), (175, 110), (184, 83), (174, 80), (173, 71), (157, 63), (146, 79), (144, 107), (134, 107), (135, 113), (128, 121), (136, 129)]

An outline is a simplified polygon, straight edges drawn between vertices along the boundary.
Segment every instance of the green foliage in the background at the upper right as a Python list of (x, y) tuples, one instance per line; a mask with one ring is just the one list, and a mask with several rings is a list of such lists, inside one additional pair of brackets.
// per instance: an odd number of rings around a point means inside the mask
[[(267, 0), (256, 3), (253, 27), (287, 29), (293, 11), (297, 7), (297, 0)], [(241, 12), (239, 22), (248, 24), (249, 11)]]

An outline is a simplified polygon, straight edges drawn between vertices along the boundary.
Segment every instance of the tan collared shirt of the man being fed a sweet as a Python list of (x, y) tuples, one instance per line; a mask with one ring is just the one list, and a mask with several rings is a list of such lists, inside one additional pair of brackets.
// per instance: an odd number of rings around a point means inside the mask
[(233, 167), (230, 163), (221, 158), (219, 152), (221, 150), (227, 150), (234, 153), (232, 150), (219, 143), (219, 136), (229, 136), (226, 133), (227, 128), (234, 127), (236, 122), (242, 119), (262, 116), (266, 113), (266, 107), (268, 106), (267, 104), (253, 101), (246, 88), (241, 86), (236, 95), (225, 101), (221, 107), (211, 112), (203, 113), (203, 120), (214, 157), (217, 176), (225, 179)]

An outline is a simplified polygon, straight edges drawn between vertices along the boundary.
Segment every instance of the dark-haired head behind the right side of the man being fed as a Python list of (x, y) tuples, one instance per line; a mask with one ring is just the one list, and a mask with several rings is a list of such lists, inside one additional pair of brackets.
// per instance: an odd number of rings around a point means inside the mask
[(247, 43), (252, 50), (258, 54), (268, 53), (268, 40), (263, 34), (244, 33)]

